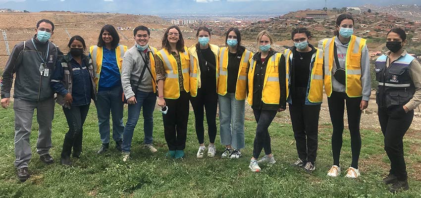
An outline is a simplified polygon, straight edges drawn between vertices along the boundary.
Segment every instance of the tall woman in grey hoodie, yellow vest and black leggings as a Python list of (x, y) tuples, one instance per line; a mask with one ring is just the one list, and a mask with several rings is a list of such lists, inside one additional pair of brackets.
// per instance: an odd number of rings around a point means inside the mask
[(352, 150), (352, 163), (346, 177), (360, 176), (360, 119), (361, 111), (368, 106), (371, 93), (370, 62), (366, 40), (354, 36), (353, 33), (354, 19), (349, 14), (341, 14), (336, 19), (335, 36), (323, 42), (324, 89), (333, 125), (333, 166), (327, 173), (331, 177), (341, 174), (339, 155), (342, 148), (345, 103)]

